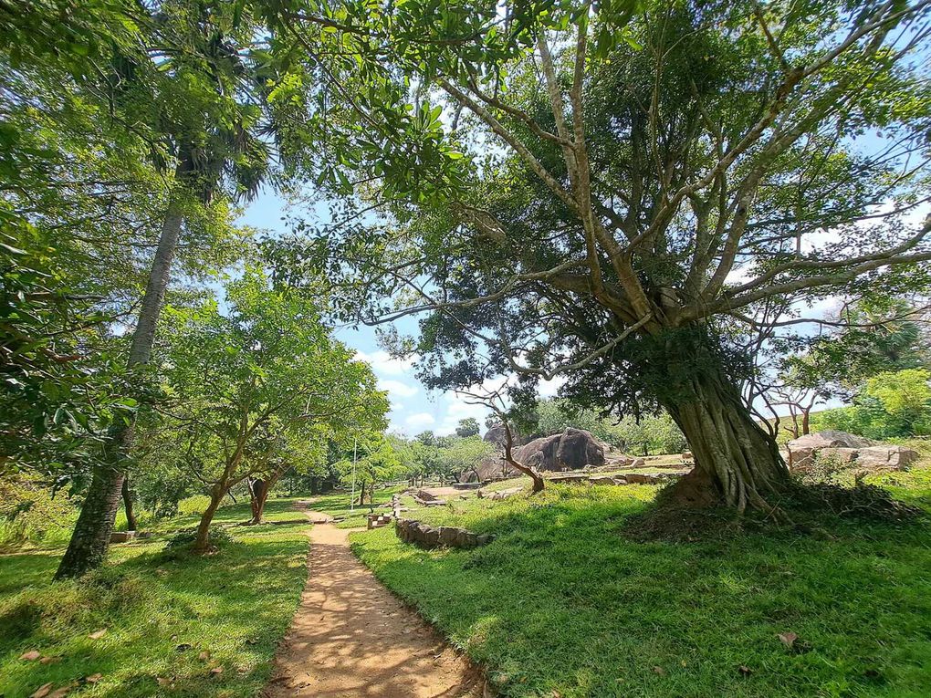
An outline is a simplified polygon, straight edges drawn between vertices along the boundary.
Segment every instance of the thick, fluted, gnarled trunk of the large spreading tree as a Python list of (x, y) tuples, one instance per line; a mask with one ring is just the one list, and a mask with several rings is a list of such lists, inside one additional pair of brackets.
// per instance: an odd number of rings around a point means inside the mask
[(681, 400), (665, 395), (664, 407), (695, 457), (695, 470), (672, 494), (694, 505), (725, 503), (738, 511), (772, 510), (769, 495), (782, 490), (789, 469), (776, 440), (754, 422), (737, 389), (722, 372), (689, 380)]

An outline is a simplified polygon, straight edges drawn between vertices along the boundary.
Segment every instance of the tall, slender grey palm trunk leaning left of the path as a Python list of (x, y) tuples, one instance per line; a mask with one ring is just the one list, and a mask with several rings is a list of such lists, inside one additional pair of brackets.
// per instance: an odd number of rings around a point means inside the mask
[[(179, 166), (179, 173), (183, 172)], [(182, 208), (177, 200), (169, 204), (162, 234), (155, 249), (149, 283), (142, 297), (139, 320), (129, 347), (128, 366), (146, 364), (152, 356), (155, 342), (155, 325), (165, 302), (169, 285), (171, 262), (181, 235)], [(100, 567), (110, 545), (116, 509), (119, 507), (123, 480), (128, 466), (128, 450), (132, 442), (132, 423), (115, 424), (108, 434), (108, 445), (103, 450), (101, 463), (92, 469), (88, 495), (81, 514), (74, 524), (74, 532), (64, 557), (61, 558), (55, 579), (80, 577), (88, 570)]]

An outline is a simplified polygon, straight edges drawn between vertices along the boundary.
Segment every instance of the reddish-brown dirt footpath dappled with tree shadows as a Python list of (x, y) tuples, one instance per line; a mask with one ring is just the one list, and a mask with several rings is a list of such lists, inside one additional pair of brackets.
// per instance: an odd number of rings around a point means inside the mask
[(479, 672), (372, 576), (347, 533), (311, 530), (307, 586), (264, 695), (481, 696)]

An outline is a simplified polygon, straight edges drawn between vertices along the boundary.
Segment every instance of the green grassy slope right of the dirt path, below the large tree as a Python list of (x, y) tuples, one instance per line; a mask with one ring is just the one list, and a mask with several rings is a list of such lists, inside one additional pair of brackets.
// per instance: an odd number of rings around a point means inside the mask
[[(931, 467), (886, 479), (931, 510)], [(422, 551), (390, 529), (352, 540), (507, 696), (928, 695), (926, 523), (631, 543), (625, 518), (653, 491), (561, 486), (416, 514), (497, 533), (470, 552)]]

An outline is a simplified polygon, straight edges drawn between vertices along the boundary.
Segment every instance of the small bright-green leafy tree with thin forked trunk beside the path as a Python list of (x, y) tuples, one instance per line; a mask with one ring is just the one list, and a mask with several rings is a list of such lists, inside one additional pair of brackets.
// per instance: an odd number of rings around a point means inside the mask
[(330, 338), (317, 304), (269, 288), (257, 272), (231, 283), (226, 299), (225, 313), (214, 301), (169, 311), (161, 363), (169, 400), (160, 428), (210, 497), (197, 550), (209, 547), (210, 521), (231, 488), (280, 477), (302, 441), (322, 450), (329, 437), (384, 428), (387, 411), (371, 369)]

